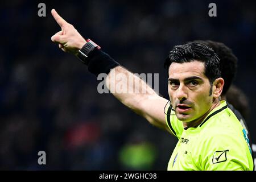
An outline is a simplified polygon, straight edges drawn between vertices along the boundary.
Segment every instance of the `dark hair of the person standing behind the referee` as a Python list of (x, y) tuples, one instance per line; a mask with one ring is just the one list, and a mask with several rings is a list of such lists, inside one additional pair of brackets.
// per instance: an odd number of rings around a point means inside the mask
[(234, 55), (232, 49), (224, 43), (214, 42), (212, 40), (194, 40), (193, 42), (204, 44), (217, 53), (220, 58), (221, 77), (224, 78), (225, 81), (221, 94), (225, 95), (237, 73), (237, 57)]

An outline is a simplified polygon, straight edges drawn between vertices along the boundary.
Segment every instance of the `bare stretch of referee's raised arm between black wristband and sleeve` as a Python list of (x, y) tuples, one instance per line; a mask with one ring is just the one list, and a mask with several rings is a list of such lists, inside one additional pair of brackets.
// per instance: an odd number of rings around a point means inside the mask
[[(122, 75), (123, 79), (120, 79), (118, 75)], [(106, 85), (122, 104), (142, 115), (152, 125), (167, 129), (164, 106), (166, 106), (168, 100), (160, 97), (141, 78), (118, 66), (112, 69), (106, 77)]]

